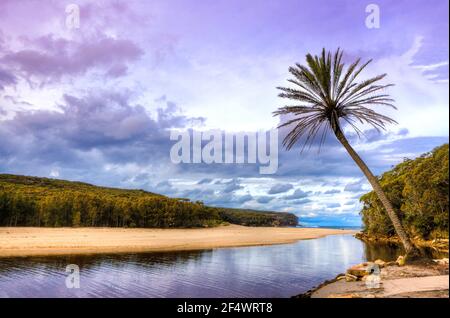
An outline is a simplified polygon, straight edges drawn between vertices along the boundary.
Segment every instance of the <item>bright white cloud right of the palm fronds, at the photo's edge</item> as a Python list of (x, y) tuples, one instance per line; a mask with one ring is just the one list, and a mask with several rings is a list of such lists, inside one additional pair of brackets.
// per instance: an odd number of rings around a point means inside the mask
[(423, 38), (418, 36), (403, 55), (375, 61), (371, 70), (387, 72), (387, 81), (395, 84), (390, 93), (398, 110), (386, 110), (386, 113), (398, 121), (399, 127), (407, 128), (410, 136), (448, 136), (448, 85), (445, 80), (429, 78), (429, 71), (448, 65), (448, 61), (415, 65), (415, 56), (422, 46)]

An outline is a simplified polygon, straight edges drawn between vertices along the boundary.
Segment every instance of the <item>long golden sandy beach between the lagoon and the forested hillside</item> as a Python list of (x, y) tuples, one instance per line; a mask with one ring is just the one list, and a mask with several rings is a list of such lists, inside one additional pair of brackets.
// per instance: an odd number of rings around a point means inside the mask
[(0, 257), (199, 250), (350, 233), (355, 231), (238, 225), (204, 229), (0, 227)]

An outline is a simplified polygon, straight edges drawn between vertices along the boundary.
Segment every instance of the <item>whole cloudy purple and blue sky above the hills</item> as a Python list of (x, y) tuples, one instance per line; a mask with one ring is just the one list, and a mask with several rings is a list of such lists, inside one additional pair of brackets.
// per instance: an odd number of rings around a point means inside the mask
[[(80, 9), (79, 25), (73, 18)], [(378, 5), (379, 28), (366, 7)], [(67, 12), (66, 12), (67, 9)], [(369, 190), (332, 138), (279, 169), (170, 161), (171, 129), (269, 130), (288, 67), (322, 47), (373, 58), (398, 121), (349, 139), (377, 174), (448, 142), (448, 1), (0, 1), (0, 173), (143, 188), (358, 225)], [(363, 127), (366, 128), (366, 127)]]

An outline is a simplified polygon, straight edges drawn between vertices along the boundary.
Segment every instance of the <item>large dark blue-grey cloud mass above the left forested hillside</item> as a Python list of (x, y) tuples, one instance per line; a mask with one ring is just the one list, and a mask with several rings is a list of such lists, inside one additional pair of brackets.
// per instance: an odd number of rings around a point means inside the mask
[(58, 111), (17, 112), (0, 125), (0, 169), (57, 164), (95, 175), (105, 164), (168, 162), (168, 129), (190, 118), (176, 115), (171, 105), (152, 118), (128, 99), (109, 92), (64, 95)]

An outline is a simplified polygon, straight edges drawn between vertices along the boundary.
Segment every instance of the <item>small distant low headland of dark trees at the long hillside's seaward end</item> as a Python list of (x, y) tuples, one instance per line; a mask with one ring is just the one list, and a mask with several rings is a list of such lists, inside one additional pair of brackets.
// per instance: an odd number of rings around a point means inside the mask
[(298, 224), (298, 217), (292, 213), (221, 208), (219, 215), (229, 223), (247, 226), (296, 226)]

